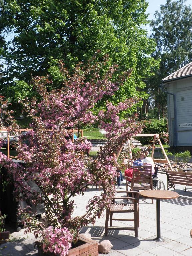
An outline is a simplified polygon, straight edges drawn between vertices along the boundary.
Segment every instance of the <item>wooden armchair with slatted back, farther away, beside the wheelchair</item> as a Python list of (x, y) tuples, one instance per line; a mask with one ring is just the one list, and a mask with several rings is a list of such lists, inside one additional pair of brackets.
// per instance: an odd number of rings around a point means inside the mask
[[(152, 165), (133, 166), (133, 178), (125, 177), (125, 179), (126, 190), (128, 190), (128, 187), (130, 187), (132, 191), (153, 189)], [(131, 180), (130, 184), (128, 180)]]

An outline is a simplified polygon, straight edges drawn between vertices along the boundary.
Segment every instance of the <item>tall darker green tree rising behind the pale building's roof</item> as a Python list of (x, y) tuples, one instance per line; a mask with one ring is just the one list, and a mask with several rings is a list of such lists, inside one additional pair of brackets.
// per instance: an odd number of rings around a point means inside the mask
[(158, 110), (158, 117), (159, 112), (163, 116), (166, 111), (166, 95), (159, 90), (161, 80), (192, 60), (192, 10), (185, 2), (167, 0), (160, 6), (160, 12), (155, 12), (150, 24), (151, 38), (157, 44), (152, 57), (160, 60), (160, 67), (148, 79), (148, 87), (153, 94), (153, 109)]

